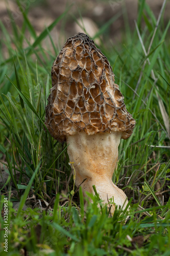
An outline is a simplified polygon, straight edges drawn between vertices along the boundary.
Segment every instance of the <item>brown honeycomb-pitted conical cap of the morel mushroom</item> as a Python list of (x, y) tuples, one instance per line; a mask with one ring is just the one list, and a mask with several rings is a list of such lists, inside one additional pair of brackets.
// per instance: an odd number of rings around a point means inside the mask
[(114, 83), (108, 59), (84, 33), (68, 38), (54, 61), (45, 110), (45, 125), (60, 142), (78, 132), (118, 131), (127, 139), (136, 123)]

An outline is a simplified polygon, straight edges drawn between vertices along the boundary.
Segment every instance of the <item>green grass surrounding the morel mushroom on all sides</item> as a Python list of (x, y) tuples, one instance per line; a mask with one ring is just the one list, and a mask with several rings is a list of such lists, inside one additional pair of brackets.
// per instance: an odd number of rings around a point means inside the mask
[[(118, 46), (101, 42), (136, 120), (132, 136), (120, 143), (113, 176), (128, 196), (130, 212), (116, 209), (108, 217), (108, 208), (97, 194), (88, 194), (93, 203), (88, 203), (86, 211), (82, 190), (72, 197), (67, 145), (55, 141), (44, 126), (51, 67), (54, 53), (58, 54), (50, 31), (70, 10), (39, 36), (27, 12), (23, 12), (21, 29), (12, 23), (11, 34), (0, 22), (0, 159), (4, 168), (0, 171), (9, 174), (1, 184), (0, 210), (8, 198), (8, 255), (170, 255), (170, 23), (164, 24), (163, 12), (158, 23), (145, 1), (139, 1), (135, 31), (128, 27), (125, 14), (123, 42)], [(110, 22), (94, 38), (108, 26)], [(48, 50), (42, 47), (46, 38), (51, 44)], [(28, 46), (23, 47), (26, 42)], [(0, 252), (6, 255), (3, 212)]]

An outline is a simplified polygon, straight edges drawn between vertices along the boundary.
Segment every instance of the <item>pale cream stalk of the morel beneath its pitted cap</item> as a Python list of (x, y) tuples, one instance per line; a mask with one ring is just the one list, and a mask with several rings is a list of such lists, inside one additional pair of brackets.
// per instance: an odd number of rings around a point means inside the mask
[[(67, 136), (67, 152), (70, 162), (74, 162), (76, 186), (86, 178), (81, 185), (84, 197), (85, 191), (94, 194), (92, 185), (95, 185), (104, 204), (108, 204), (108, 199), (113, 198), (114, 203), (124, 209), (128, 203), (127, 197), (124, 191), (112, 182), (120, 137), (120, 132), (95, 135), (82, 132)], [(114, 208), (111, 208), (112, 213)]]

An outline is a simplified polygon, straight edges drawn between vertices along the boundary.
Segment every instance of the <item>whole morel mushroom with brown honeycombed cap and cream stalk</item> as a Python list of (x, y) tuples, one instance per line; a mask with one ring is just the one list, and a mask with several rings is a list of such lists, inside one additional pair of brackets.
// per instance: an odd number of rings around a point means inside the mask
[(86, 178), (84, 196), (85, 191), (94, 193), (95, 185), (104, 203), (113, 198), (125, 208), (127, 197), (112, 176), (120, 139), (131, 136), (135, 120), (114, 83), (108, 59), (84, 33), (68, 38), (53, 64), (45, 124), (55, 139), (69, 144), (76, 186)]

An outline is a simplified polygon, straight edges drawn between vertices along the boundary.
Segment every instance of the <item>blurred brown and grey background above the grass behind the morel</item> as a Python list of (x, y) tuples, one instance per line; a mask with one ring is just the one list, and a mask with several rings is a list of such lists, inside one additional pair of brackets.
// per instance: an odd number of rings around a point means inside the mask
[[(23, 22), (22, 13), (16, 2), (12, 0), (1, 0), (0, 2), (0, 17), (9, 32), (12, 32), (13, 23), (21, 29)], [(126, 37), (126, 33), (132, 32), (135, 28), (134, 20), (137, 19), (138, 2), (142, 3), (141, 0), (24, 0), (20, 1), (20, 4), (22, 11), (28, 13), (30, 23), (37, 35), (68, 9), (67, 14), (51, 32), (51, 36), (60, 50), (68, 37), (82, 31), (86, 31), (91, 37), (96, 35), (93, 39), (98, 45), (100, 45), (100, 38), (105, 47), (109, 47), (110, 40), (117, 45)], [(147, 0), (145, 2), (157, 18), (163, 1)], [(170, 1), (167, 1), (163, 15), (165, 25), (168, 22), (169, 13)], [(145, 15), (148, 15), (147, 12)], [(142, 20), (140, 29), (142, 29)], [(33, 38), (28, 39), (30, 42), (33, 40)], [(25, 44), (27, 46), (26, 42)], [(48, 45), (47, 41), (44, 41), (44, 47), (45, 45)]]

